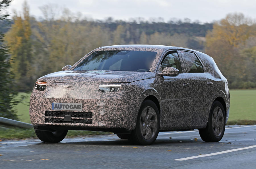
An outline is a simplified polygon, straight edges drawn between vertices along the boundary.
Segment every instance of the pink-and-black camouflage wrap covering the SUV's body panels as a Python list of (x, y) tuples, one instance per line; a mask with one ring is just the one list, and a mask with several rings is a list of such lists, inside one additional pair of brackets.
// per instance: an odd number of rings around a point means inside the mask
[[(72, 70), (92, 52), (99, 50), (140, 50), (154, 51), (157, 54), (149, 72)], [(162, 73), (160, 63), (165, 54), (172, 50), (195, 53), (203, 64), (204, 73), (187, 73), (186, 64), (189, 61), (184, 62), (183, 57), (187, 56), (179, 53), (183, 73), (175, 77), (159, 75)], [(224, 101), (228, 118), (229, 90), (226, 78), (210, 56), (186, 48), (160, 45), (117, 45), (100, 47), (94, 51), (81, 58), (69, 70), (51, 73), (38, 79), (47, 84), (44, 91), (32, 91), (29, 109), (32, 125), (133, 130), (139, 108), (146, 98), (153, 99), (159, 107), (161, 131), (205, 128), (210, 107), (216, 99)], [(190, 59), (193, 62), (194, 58)], [(99, 85), (116, 84), (121, 85), (117, 92), (99, 90)], [(92, 124), (45, 122), (45, 118), (64, 118), (45, 116), (46, 111), (55, 111), (52, 110), (52, 103), (82, 103), (82, 112), (92, 112), (92, 118), (72, 119), (92, 119)]]

